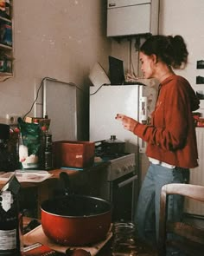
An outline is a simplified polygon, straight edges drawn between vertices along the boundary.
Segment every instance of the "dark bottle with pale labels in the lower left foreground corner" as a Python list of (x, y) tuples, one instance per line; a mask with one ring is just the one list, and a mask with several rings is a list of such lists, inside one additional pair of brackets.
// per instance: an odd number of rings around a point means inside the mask
[(0, 192), (0, 255), (20, 256), (19, 204), (20, 183), (10, 178)]

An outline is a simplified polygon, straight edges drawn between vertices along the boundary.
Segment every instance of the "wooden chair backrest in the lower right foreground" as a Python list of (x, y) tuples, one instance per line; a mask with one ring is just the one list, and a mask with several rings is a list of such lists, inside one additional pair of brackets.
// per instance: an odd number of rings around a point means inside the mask
[[(159, 248), (158, 255), (163, 256), (166, 253), (166, 238), (167, 238), (167, 196), (169, 194), (180, 194), (184, 197), (188, 197), (193, 200), (198, 200), (204, 202), (204, 187), (192, 184), (181, 184), (181, 183), (171, 183), (166, 184), (162, 187), (161, 198), (160, 198), (160, 220), (159, 220)], [(178, 225), (177, 225), (178, 226)], [(179, 235), (185, 236), (188, 239), (193, 238), (191, 226), (188, 226), (185, 229), (185, 226), (182, 226), (183, 231), (179, 233)], [(193, 228), (193, 227), (192, 227)], [(188, 235), (188, 230), (190, 234)], [(173, 230), (171, 230), (173, 231)], [(204, 231), (200, 231), (197, 233), (197, 230), (194, 228), (194, 237), (196, 235), (204, 234)], [(204, 237), (201, 239), (198, 238), (199, 242), (204, 243)]]

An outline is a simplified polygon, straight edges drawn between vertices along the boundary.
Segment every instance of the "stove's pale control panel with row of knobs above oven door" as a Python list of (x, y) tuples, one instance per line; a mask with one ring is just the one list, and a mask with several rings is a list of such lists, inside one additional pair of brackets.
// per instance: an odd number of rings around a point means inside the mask
[(114, 181), (130, 173), (136, 173), (135, 154), (126, 154), (111, 160), (108, 167), (108, 181)]

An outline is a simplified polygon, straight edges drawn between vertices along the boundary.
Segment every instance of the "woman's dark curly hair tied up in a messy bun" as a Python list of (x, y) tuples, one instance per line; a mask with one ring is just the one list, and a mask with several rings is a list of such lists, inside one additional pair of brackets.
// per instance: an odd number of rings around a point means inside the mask
[(156, 55), (157, 59), (174, 69), (182, 69), (188, 62), (188, 50), (182, 36), (150, 36), (140, 51), (147, 56)]

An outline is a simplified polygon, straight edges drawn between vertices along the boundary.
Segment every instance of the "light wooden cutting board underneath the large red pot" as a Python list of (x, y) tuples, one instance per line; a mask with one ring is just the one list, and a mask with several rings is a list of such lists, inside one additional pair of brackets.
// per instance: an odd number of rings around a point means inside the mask
[[(111, 229), (110, 229), (111, 230)], [(106, 239), (96, 243), (92, 246), (61, 246), (57, 243), (54, 243), (54, 241), (49, 240), (48, 237), (45, 235), (45, 233), (42, 230), (41, 225), (35, 227), (35, 229), (31, 230), (29, 233), (26, 233), (23, 235), (23, 244), (24, 246), (30, 246), (33, 245), (35, 243), (41, 243), (42, 245), (46, 245), (48, 247), (50, 247), (51, 249), (55, 250), (56, 252), (60, 252), (60, 253), (66, 253), (66, 250), (68, 248), (70, 249), (84, 249), (87, 252), (91, 253), (92, 256), (96, 255), (97, 253), (99, 253), (99, 250), (105, 246), (105, 244), (107, 243), (108, 240), (110, 240), (112, 238), (112, 232), (108, 232)]]

